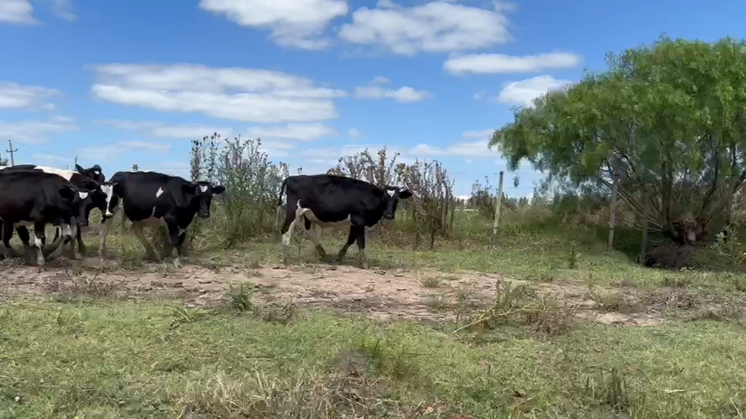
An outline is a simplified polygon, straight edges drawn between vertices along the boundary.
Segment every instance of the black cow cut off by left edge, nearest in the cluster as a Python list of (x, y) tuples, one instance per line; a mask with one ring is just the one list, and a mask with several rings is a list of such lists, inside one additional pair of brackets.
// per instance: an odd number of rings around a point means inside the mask
[(27, 229), (34, 226), (37, 265), (44, 264), (46, 224), (61, 227), (65, 242), (72, 236), (70, 224), (84, 211), (81, 190), (57, 174), (44, 171), (0, 171), (0, 231), (5, 256), (12, 256), (10, 237), (16, 228), (26, 252), (31, 248)]

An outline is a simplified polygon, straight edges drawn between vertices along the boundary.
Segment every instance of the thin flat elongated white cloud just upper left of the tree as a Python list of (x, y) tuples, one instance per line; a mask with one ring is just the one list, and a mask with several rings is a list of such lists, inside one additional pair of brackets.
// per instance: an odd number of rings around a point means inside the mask
[(580, 64), (580, 55), (570, 52), (549, 52), (522, 57), (505, 54), (469, 54), (448, 58), (443, 63), (443, 68), (456, 75), (466, 73), (497, 74), (569, 69), (578, 64)]

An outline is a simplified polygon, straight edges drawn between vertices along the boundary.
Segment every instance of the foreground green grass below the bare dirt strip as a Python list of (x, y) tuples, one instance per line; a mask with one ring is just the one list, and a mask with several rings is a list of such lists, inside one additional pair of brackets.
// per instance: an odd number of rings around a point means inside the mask
[(14, 300), (0, 321), (0, 418), (742, 418), (746, 411), (746, 369), (738, 367), (746, 334), (724, 322), (454, 337), (328, 312), (279, 324), (157, 301), (49, 300)]

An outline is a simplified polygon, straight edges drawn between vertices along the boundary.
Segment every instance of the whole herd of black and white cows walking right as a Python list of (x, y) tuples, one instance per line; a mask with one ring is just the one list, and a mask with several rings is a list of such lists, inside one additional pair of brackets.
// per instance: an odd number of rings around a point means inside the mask
[[(381, 189), (362, 180), (328, 174), (287, 177), (280, 189), (278, 207), (282, 204), (283, 191), (287, 197), (286, 217), (280, 232), (285, 262), (294, 226), (305, 227), (316, 251), (326, 258), (316, 228), (348, 225), (349, 237), (337, 259), (341, 262), (348, 248), (357, 242), (363, 266), (367, 266), (366, 227), (372, 227), (381, 218), (393, 219), (398, 200), (411, 196), (410, 191), (397, 186)], [(62, 242), (69, 245), (72, 258), (78, 257), (75, 245), (85, 255), (82, 230), (89, 224), (90, 212), (98, 209), (101, 211), (98, 255), (103, 260), (107, 233), (114, 215), (122, 207), (134, 235), (151, 259), (158, 256), (145, 238), (143, 227), (165, 225), (167, 253), (174, 256), (173, 263), (179, 267), (187, 227), (195, 215), (209, 218), (213, 195), (224, 192), (222, 185), (190, 182), (155, 171), (118, 171), (106, 180), (98, 165), (82, 168), (76, 164), (75, 171), (37, 165), (0, 166), (3, 243), (0, 259), (16, 256), (10, 246), (13, 231), (24, 245), (24, 256), (34, 252), (39, 266), (44, 265), (45, 256), (61, 248)], [(47, 224), (57, 227), (57, 236), (45, 251)], [(33, 240), (28, 227), (34, 227)]]

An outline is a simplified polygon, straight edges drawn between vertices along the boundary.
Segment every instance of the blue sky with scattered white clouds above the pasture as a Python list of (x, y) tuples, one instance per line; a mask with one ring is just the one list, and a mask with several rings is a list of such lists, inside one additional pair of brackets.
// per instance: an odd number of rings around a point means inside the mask
[[(568, 4), (573, 4), (569, 6)], [(511, 107), (672, 37), (743, 37), (746, 3), (471, 0), (0, 0), (0, 140), (16, 163), (188, 173), (189, 139), (261, 136), (326, 171), (385, 145), (468, 194)], [(524, 166), (509, 195), (529, 195)]]

